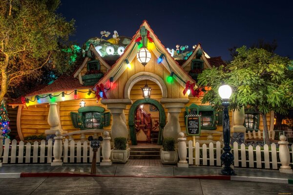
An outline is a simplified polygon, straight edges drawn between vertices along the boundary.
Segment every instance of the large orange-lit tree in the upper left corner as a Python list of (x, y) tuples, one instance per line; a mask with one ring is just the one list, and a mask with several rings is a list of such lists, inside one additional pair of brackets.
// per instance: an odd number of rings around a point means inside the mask
[(0, 3), (0, 101), (8, 87), (38, 78), (42, 69), (70, 66), (61, 48), (74, 30), (56, 13), (60, 0), (2, 0)]

